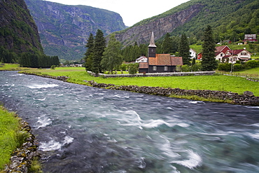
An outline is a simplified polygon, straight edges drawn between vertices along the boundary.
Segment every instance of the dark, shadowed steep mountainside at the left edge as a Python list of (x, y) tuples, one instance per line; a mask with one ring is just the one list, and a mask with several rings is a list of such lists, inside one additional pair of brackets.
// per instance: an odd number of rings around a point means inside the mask
[(24, 0), (0, 1), (0, 48), (1, 55), (43, 53), (38, 29)]

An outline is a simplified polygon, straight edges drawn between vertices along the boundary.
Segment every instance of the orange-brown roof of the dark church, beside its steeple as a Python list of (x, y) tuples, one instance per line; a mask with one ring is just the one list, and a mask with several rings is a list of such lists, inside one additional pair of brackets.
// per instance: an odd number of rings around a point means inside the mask
[(182, 57), (174, 57), (170, 54), (156, 54), (155, 57), (149, 57), (150, 65), (175, 66), (183, 65)]

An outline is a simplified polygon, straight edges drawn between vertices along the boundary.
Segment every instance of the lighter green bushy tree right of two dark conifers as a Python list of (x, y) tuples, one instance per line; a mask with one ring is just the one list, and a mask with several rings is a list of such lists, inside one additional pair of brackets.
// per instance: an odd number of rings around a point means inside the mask
[(104, 48), (104, 53), (101, 61), (102, 69), (109, 70), (111, 73), (113, 69), (122, 64), (123, 56), (120, 54), (120, 42), (116, 40), (115, 35), (110, 36), (108, 45)]

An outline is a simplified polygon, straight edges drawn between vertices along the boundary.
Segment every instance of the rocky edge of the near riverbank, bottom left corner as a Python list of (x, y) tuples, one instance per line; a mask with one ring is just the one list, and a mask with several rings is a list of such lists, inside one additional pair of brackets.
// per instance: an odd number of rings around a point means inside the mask
[(21, 120), (21, 125), (20, 132), (27, 133), (28, 137), (20, 148), (13, 151), (10, 158), (10, 165), (6, 165), (6, 169), (4, 169), (3, 172), (27, 173), (33, 159), (40, 157), (40, 153), (37, 151), (38, 145), (36, 139), (34, 135), (31, 134), (31, 127), (24, 120)]

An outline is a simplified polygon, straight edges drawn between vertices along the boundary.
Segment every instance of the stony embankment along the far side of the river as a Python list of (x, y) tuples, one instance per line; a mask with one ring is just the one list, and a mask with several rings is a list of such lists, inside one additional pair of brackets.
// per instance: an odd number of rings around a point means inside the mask
[[(54, 78), (59, 81), (67, 81), (67, 76), (48, 76), (42, 74), (33, 74), (22, 72), (23, 74), (42, 76), (45, 78)], [(217, 90), (183, 90), (179, 88), (162, 88), (148, 87), (137, 85), (114, 85), (106, 83), (96, 83), (95, 81), (85, 81), (85, 85), (90, 85), (96, 88), (106, 88), (111, 90), (127, 90), (132, 92), (141, 92), (150, 95), (161, 95), (167, 97), (176, 97), (182, 99), (193, 99), (198, 101), (223, 102), (230, 104), (240, 104), (248, 106), (259, 106), (259, 97), (255, 97), (253, 92), (246, 91), (243, 95), (236, 92), (226, 92)]]

